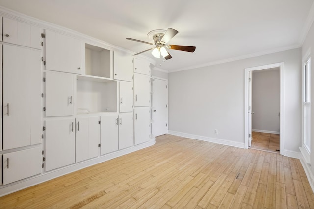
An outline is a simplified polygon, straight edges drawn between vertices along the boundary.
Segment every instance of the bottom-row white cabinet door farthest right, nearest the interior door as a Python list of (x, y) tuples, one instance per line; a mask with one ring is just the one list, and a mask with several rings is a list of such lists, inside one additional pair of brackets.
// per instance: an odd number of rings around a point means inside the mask
[(134, 109), (134, 144), (141, 144), (151, 138), (151, 112), (150, 107), (137, 107)]

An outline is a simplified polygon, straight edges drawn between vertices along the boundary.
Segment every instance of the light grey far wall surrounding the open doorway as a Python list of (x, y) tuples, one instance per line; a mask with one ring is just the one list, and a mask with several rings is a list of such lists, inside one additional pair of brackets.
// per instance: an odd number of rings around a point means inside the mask
[(169, 73), (169, 133), (244, 145), (244, 69), (279, 62), (284, 62), (284, 149), (299, 152), (300, 48)]

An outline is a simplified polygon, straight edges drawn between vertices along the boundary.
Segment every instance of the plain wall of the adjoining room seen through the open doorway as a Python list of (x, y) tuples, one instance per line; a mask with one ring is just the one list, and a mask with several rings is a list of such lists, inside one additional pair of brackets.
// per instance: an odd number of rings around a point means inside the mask
[(279, 133), (279, 79), (279, 68), (253, 71), (252, 129)]

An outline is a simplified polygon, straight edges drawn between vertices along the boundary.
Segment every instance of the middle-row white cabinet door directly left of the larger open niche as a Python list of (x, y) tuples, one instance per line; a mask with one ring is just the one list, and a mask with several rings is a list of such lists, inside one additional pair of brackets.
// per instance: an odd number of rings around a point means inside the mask
[(46, 117), (73, 115), (74, 75), (46, 72)]

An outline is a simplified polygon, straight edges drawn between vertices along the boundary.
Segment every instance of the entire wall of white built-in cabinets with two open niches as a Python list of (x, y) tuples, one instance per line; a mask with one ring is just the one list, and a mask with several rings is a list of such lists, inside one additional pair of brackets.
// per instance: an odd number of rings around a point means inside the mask
[(150, 62), (40, 24), (0, 16), (0, 185), (150, 140)]

